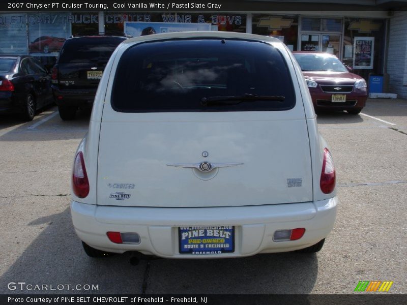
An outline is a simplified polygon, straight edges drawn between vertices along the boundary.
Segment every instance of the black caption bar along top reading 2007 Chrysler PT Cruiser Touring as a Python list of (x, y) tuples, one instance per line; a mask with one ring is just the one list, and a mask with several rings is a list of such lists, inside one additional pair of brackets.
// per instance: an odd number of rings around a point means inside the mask
[[(372, 1), (372, 4), (375, 3)], [(397, 11), (407, 3), (390, 1), (380, 5), (355, 5), (344, 1), (278, 2), (272, 0), (2, 0), (1, 12), (277, 12), (277, 11)]]

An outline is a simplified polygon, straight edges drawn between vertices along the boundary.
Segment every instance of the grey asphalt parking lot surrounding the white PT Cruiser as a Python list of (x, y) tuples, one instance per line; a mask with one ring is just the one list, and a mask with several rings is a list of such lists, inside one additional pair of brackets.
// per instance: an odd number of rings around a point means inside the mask
[[(56, 107), (30, 123), (0, 116), (0, 293), (47, 292), (8, 289), (25, 282), (72, 285), (51, 293), (349, 294), (359, 281), (393, 281), (387, 293), (407, 293), (407, 100), (318, 115), (340, 200), (321, 252), (136, 266), (130, 254), (87, 257), (71, 224), (71, 164), (89, 116), (62, 121)], [(72, 290), (78, 284), (98, 289)]]

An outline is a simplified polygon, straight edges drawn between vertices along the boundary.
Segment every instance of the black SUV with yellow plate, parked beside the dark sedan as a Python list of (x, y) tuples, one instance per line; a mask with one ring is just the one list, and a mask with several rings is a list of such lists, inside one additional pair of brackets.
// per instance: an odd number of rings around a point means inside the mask
[(126, 37), (84, 36), (67, 39), (52, 69), (52, 92), (63, 120), (78, 107), (92, 107), (103, 70)]

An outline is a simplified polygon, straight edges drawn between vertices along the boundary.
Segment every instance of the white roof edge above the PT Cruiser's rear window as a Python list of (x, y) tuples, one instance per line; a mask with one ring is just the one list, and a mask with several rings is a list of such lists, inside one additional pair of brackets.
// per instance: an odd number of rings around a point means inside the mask
[(130, 38), (123, 42), (123, 44), (134, 44), (135, 42), (141, 41), (154, 41), (154, 40), (169, 40), (178, 38), (230, 38), (230, 39), (246, 39), (246, 40), (257, 40), (264, 42), (281, 43), (281, 40), (264, 35), (246, 34), (246, 33), (236, 33), (236, 32), (222, 32), (222, 31), (193, 31), (193, 32), (173, 32), (173, 33), (160, 33), (146, 36), (139, 36)]

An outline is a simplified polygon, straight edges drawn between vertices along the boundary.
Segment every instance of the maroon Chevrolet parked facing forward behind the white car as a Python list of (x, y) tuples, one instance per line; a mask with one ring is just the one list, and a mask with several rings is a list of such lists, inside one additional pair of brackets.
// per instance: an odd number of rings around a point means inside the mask
[(346, 110), (358, 114), (366, 104), (367, 84), (332, 54), (295, 51), (315, 110)]

